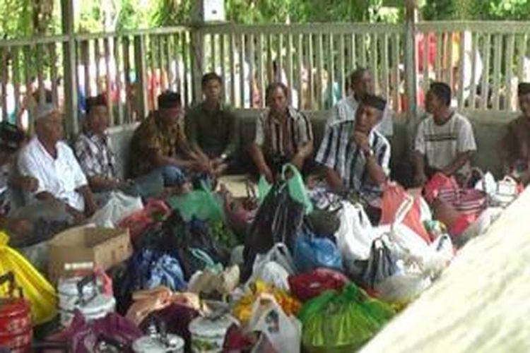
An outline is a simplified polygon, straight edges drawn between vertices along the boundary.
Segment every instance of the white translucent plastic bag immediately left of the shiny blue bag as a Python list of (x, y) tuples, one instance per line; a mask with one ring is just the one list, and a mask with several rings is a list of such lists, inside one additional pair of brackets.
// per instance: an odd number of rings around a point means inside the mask
[(287, 246), (283, 243), (275, 244), (265, 255), (257, 254), (252, 265), (252, 275), (247, 281), (247, 287), (256, 280), (263, 280), (275, 287), (289, 290), (287, 278), (295, 275), (296, 268)]

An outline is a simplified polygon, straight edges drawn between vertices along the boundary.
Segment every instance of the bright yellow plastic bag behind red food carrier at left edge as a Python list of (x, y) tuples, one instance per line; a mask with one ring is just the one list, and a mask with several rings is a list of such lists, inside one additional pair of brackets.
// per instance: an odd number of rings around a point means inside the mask
[[(33, 324), (39, 325), (52, 320), (57, 315), (57, 293), (54, 287), (33, 268), (18, 251), (7, 244), (9, 237), (0, 232), (0, 273), (13, 272), (18, 286), (31, 303)], [(8, 295), (7, 286), (0, 287), (0, 297)]]

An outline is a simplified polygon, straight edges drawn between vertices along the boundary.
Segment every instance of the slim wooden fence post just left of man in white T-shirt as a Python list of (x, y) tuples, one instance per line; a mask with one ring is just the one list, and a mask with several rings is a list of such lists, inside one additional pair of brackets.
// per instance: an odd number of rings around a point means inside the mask
[(405, 83), (408, 119), (418, 116), (418, 77), (416, 73), (416, 0), (406, 0)]

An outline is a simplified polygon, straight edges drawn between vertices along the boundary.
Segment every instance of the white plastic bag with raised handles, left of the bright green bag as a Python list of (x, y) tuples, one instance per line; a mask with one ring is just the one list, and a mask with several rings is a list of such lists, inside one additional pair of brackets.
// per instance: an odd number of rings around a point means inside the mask
[(272, 295), (262, 294), (254, 303), (248, 329), (265, 335), (276, 352), (300, 352), (302, 323), (295, 316), (287, 316)]

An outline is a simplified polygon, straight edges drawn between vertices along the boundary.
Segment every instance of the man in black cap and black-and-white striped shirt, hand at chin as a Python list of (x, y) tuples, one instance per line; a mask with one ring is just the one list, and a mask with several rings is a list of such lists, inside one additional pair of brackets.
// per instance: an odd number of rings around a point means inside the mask
[(386, 105), (381, 97), (365, 95), (355, 120), (329, 126), (317, 154), (331, 189), (355, 191), (372, 205), (389, 175), (390, 144), (375, 130)]

